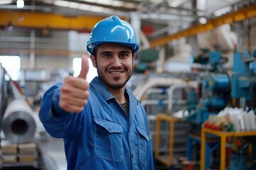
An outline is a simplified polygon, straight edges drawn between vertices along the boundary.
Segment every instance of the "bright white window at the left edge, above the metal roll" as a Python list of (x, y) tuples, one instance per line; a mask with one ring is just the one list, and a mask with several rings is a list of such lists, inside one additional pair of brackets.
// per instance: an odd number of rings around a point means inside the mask
[(6, 72), (10, 75), (11, 79), (13, 79), (14, 81), (19, 79), (18, 77), (20, 77), (21, 57), (0, 55), (0, 62), (2, 64), (2, 67), (4, 67), (4, 69), (6, 69)]

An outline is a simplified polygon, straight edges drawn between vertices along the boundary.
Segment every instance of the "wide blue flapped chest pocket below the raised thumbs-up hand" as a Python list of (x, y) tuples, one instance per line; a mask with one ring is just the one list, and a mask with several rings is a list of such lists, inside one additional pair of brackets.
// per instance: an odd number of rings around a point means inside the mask
[(124, 157), (122, 125), (99, 118), (94, 118), (94, 120), (94, 152), (96, 156), (113, 162), (121, 162)]

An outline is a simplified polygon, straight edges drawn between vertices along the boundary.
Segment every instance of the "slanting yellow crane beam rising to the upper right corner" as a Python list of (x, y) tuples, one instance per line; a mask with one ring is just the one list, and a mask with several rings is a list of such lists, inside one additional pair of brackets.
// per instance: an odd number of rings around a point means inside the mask
[(233, 13), (228, 13), (213, 20), (208, 21), (206, 24), (201, 24), (197, 26), (192, 26), (186, 30), (181, 30), (178, 33), (173, 35), (167, 35), (164, 38), (159, 38), (156, 40), (152, 40), (150, 43), (150, 47), (154, 48), (159, 45), (165, 45), (171, 40), (175, 40), (182, 37), (189, 37), (191, 35), (196, 35), (198, 33), (202, 33), (207, 30), (212, 30), (218, 26), (221, 26), (225, 23), (234, 23), (246, 20), (247, 18), (252, 18), (256, 16), (256, 5), (248, 6), (245, 8), (240, 8), (238, 11)]

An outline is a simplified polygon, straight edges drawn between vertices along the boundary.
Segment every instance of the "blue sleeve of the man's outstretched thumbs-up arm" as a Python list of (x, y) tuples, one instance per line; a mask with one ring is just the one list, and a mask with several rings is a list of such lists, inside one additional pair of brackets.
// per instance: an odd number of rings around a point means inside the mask
[(83, 114), (68, 113), (59, 107), (61, 86), (55, 84), (43, 95), (39, 118), (52, 137), (65, 138), (78, 134)]

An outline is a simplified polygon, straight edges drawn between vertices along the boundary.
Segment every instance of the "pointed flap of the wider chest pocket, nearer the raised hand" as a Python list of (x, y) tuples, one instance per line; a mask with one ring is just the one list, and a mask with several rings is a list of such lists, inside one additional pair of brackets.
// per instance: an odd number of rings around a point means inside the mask
[(97, 123), (97, 125), (100, 125), (102, 128), (105, 128), (105, 130), (107, 130), (110, 133), (123, 131), (122, 125), (119, 125), (117, 123), (113, 123), (113, 122), (99, 119), (99, 118), (94, 118), (94, 120), (95, 120), (95, 123)]

